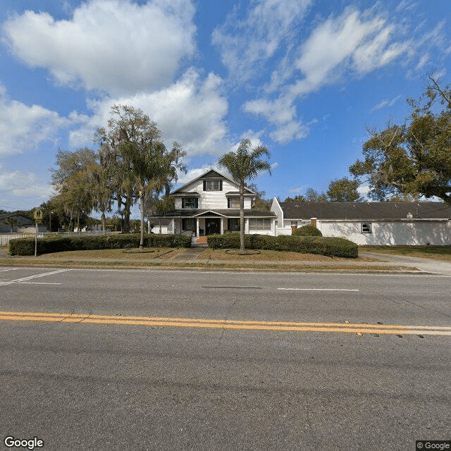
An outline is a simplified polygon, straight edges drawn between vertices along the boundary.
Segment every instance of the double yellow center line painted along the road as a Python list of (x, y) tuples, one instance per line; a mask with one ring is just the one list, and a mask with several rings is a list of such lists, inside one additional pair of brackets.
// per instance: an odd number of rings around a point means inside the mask
[(121, 324), (128, 326), (193, 327), (233, 330), (276, 330), (292, 332), (377, 333), (396, 335), (451, 335), (445, 326), (395, 326), (387, 324), (299, 323), (289, 321), (234, 321), (223, 319), (161, 318), (153, 316), (110, 316), (34, 311), (0, 311), (0, 321), (43, 321), (54, 323)]

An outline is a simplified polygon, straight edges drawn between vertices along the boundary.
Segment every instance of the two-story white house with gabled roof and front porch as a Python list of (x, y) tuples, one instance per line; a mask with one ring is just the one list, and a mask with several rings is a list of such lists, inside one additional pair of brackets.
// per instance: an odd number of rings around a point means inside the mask
[[(276, 235), (276, 214), (252, 209), (255, 198), (245, 190), (245, 233)], [(171, 192), (175, 209), (152, 218), (153, 233), (192, 233), (196, 237), (240, 230), (240, 192), (236, 182), (209, 170)]]

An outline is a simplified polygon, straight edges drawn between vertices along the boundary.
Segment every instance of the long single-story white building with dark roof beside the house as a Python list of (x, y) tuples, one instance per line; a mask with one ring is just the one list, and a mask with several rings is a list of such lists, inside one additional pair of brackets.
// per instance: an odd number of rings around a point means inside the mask
[(278, 202), (276, 235), (313, 223), (326, 237), (357, 245), (451, 245), (451, 206), (443, 202)]

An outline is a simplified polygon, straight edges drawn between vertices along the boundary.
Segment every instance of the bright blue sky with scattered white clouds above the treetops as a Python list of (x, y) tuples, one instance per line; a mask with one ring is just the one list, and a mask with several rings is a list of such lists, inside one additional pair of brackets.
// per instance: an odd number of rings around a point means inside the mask
[(266, 197), (326, 191), (366, 128), (450, 82), (451, 2), (0, 0), (0, 209), (49, 199), (59, 148), (92, 147), (113, 104), (187, 152), (186, 183), (242, 137), (271, 151)]

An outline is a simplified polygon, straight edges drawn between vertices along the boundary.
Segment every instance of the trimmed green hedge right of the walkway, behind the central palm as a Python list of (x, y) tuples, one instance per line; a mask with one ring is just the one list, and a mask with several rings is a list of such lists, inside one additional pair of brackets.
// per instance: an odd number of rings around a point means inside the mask
[[(211, 249), (239, 249), (240, 234), (209, 235), (207, 242)], [(354, 242), (335, 237), (245, 235), (245, 248), (320, 254), (351, 259), (359, 257), (359, 248)]]

